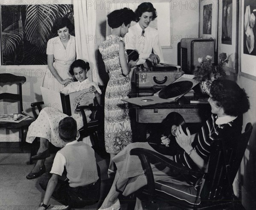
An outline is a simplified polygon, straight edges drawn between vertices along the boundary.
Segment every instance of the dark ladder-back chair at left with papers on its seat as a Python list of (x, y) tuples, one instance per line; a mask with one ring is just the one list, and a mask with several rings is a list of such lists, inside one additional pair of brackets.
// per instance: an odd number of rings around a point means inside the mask
[[(23, 103), (22, 103), (22, 84), (26, 82), (26, 77), (16, 76), (8, 73), (0, 74), (0, 86), (3, 87), (5, 85), (17, 85), (17, 93), (3, 92), (0, 94), (0, 100), (3, 103), (18, 103), (17, 109), (15, 107), (15, 113), (12, 114), (23, 114), (27, 115), (23, 112)], [(19, 129), (19, 137), (21, 139), (21, 146), (23, 145), (24, 139), (24, 128), (28, 127), (34, 118), (29, 116), (29, 118), (20, 121), (19, 123), (13, 122), (0, 122), (0, 128), (4, 129)]]

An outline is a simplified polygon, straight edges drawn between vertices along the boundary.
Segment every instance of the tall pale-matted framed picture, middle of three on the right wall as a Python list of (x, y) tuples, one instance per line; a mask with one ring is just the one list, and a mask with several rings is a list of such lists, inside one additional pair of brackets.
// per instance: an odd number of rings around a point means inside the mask
[(226, 53), (225, 69), (238, 74), (238, 0), (219, 0), (218, 12), (218, 55)]

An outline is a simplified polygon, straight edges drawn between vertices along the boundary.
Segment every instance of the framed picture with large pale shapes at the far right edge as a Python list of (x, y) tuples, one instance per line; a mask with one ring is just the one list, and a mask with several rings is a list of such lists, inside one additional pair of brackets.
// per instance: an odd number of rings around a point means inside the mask
[(256, 80), (256, 1), (239, 1), (239, 8), (239, 74)]

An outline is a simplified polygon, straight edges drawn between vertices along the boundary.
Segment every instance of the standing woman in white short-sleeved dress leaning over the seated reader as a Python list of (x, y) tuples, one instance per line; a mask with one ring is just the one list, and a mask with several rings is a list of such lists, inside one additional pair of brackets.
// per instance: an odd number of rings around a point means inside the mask
[(70, 35), (74, 30), (73, 24), (67, 17), (55, 20), (52, 33), (58, 34), (47, 42), (48, 69), (44, 76), (43, 86), (55, 91), (61, 91), (65, 85), (72, 82), (68, 70), (76, 59), (75, 37)]

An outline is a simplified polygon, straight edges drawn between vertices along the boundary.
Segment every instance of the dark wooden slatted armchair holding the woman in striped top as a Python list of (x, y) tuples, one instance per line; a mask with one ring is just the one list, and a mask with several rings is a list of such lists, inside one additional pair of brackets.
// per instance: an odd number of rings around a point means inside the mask
[[(138, 155), (140, 157), (148, 181), (147, 187), (139, 190), (139, 192), (137, 191), (135, 196), (139, 197), (144, 194), (148, 196), (149, 201), (158, 198), (172, 206), (188, 210), (217, 209), (218, 207), (222, 207), (223, 209), (230, 206), (233, 206), (234, 209), (243, 209), (241, 203), (233, 193), (232, 184), (240, 167), (251, 132), (252, 125), (248, 123), (244, 133), (241, 134), (236, 148), (225, 147), (221, 140), (214, 141), (214, 150), (209, 157), (205, 172), (194, 171), (183, 167), (151, 150), (142, 148), (131, 150), (131, 155)], [(175, 197), (173, 195), (174, 184), (166, 181), (154, 181), (150, 159), (159, 161), (166, 167), (175, 169), (175, 171), (179, 171), (183, 175), (200, 175), (202, 177), (202, 184), (198, 190), (198, 195), (194, 198), (189, 198), (190, 200)], [(134, 209), (135, 203), (130, 202), (129, 205), (128, 209)]]

